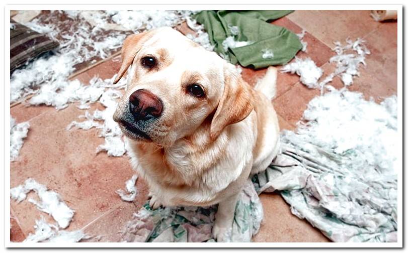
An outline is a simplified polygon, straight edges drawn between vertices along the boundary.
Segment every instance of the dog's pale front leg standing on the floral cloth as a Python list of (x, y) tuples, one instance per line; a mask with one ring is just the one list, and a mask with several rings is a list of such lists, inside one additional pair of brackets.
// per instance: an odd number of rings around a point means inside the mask
[(228, 242), (232, 235), (232, 222), (234, 220), (235, 205), (238, 200), (239, 192), (218, 204), (218, 210), (215, 214), (212, 234), (217, 242)]

